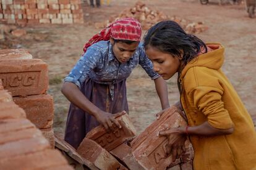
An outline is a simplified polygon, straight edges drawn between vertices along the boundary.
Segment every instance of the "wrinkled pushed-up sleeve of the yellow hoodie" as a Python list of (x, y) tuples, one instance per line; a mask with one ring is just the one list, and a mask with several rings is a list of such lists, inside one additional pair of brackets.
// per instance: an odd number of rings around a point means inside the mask
[(195, 107), (207, 116), (208, 123), (218, 129), (229, 129), (233, 127), (228, 110), (224, 108), (221, 100), (223, 89), (211, 86), (197, 86), (188, 93), (190, 99), (194, 100)]

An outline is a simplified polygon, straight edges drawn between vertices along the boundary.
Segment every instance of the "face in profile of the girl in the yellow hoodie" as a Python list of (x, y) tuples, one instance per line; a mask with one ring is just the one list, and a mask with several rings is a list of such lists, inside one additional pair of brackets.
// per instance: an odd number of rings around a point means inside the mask
[(171, 78), (181, 68), (181, 61), (178, 57), (161, 52), (155, 47), (149, 45), (146, 54), (152, 61), (156, 73), (161, 75), (163, 79)]

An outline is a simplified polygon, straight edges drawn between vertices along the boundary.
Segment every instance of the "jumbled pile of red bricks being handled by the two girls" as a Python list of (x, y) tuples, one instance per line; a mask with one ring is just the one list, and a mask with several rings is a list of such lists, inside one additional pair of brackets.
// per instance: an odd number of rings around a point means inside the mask
[[(192, 169), (193, 149), (186, 141), (186, 152), (172, 161), (172, 155), (165, 154), (166, 137), (158, 137), (164, 129), (186, 126), (186, 121), (176, 107), (165, 111), (139, 136), (127, 114), (116, 118), (122, 128), (106, 132), (103, 126), (90, 131), (83, 139), (77, 152), (87, 160), (93, 169)], [(135, 137), (135, 139), (134, 139)]]

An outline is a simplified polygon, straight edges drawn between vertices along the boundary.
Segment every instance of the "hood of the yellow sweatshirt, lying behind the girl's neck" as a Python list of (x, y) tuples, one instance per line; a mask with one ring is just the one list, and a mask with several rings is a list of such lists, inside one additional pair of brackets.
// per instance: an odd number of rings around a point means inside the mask
[(214, 70), (219, 70), (224, 62), (224, 47), (219, 43), (207, 43), (207, 47), (210, 47), (212, 51), (208, 51), (206, 54), (200, 54), (187, 65), (181, 71), (181, 79), (187, 73), (187, 70), (192, 67), (207, 67)]

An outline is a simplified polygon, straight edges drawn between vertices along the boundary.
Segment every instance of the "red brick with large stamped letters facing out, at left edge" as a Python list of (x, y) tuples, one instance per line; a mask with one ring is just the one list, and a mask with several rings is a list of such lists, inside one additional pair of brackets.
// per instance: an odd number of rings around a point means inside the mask
[(0, 79), (12, 96), (44, 94), (48, 66), (39, 59), (0, 60)]

